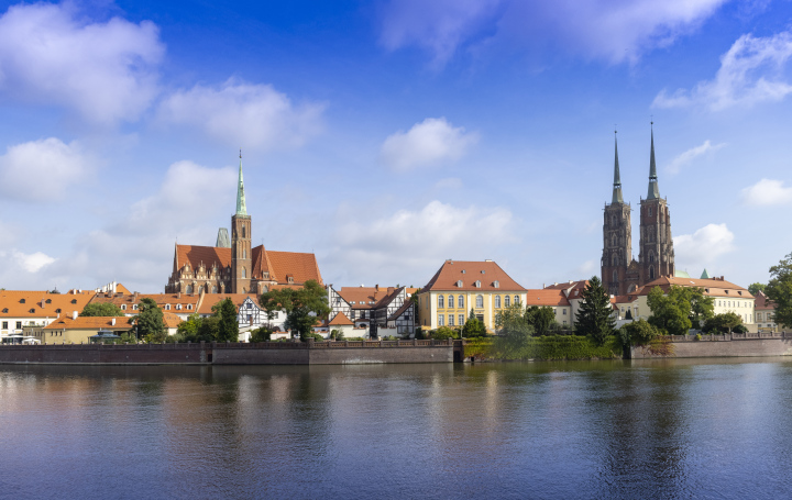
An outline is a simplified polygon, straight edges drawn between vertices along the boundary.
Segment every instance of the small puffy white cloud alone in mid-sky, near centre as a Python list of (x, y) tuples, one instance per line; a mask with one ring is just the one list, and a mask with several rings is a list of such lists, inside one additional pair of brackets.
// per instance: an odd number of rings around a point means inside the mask
[(407, 131), (389, 135), (382, 145), (385, 165), (397, 171), (460, 159), (479, 141), (475, 132), (454, 127), (444, 118), (428, 118)]

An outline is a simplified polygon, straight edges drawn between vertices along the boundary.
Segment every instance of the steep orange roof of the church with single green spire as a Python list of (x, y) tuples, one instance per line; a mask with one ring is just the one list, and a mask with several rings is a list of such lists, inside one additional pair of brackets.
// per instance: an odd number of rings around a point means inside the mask
[[(252, 279), (288, 284), (287, 277), (292, 277), (295, 285), (301, 285), (309, 279), (322, 284), (319, 265), (314, 254), (273, 252), (264, 248), (264, 245), (258, 245), (251, 251), (251, 262), (253, 263)], [(197, 269), (201, 264), (208, 270), (215, 265), (223, 269), (231, 266), (231, 248), (177, 244), (174, 271), (185, 264), (189, 264), (193, 269)]]

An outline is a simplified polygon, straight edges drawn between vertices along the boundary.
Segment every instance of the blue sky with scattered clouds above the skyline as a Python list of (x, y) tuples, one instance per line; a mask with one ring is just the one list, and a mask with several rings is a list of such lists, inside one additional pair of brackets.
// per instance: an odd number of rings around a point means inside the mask
[(327, 282), (587, 278), (614, 129), (637, 209), (650, 120), (679, 269), (792, 252), (789, 0), (217, 3), (0, 1), (0, 287), (161, 291), (240, 147), (254, 243)]

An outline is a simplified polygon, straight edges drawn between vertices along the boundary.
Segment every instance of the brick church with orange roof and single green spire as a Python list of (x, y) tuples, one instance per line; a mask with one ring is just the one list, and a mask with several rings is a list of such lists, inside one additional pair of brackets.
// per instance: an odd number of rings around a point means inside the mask
[(176, 243), (166, 293), (264, 293), (283, 287), (299, 287), (309, 279), (322, 285), (314, 254), (273, 252), (251, 246), (251, 216), (248, 214), (240, 154), (237, 213), (231, 216), (231, 235), (218, 232), (216, 246)]

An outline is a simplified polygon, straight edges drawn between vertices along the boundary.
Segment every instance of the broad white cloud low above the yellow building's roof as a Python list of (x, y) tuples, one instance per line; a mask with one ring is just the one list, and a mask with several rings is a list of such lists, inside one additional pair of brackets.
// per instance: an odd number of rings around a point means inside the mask
[(377, 279), (404, 285), (405, 279), (431, 276), (446, 258), (493, 258), (493, 248), (513, 240), (514, 218), (505, 208), (454, 207), (436, 200), (369, 222), (346, 221), (343, 213), (340, 219), (332, 236), (336, 248), (322, 265), (348, 279), (355, 278), (351, 271), (376, 269)]

